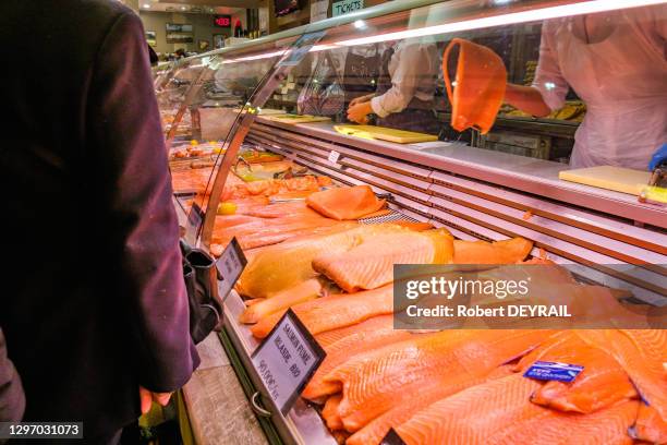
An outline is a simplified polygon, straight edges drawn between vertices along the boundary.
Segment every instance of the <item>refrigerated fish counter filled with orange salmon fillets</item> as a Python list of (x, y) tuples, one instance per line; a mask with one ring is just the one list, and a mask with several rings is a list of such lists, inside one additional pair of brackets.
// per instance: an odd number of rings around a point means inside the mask
[[(257, 149), (269, 145), (259, 132), (248, 141)], [(345, 147), (339, 147), (342, 159), (327, 161), (317, 156), (322, 144), (296, 152), (289, 141), (271, 146), (286, 158), (237, 166), (229, 176), (210, 245), (220, 255), (237, 238), (248, 260), (225, 302), (225, 329), (229, 353), (243, 364), (237, 371), (258, 388), (251, 397), (256, 412), (271, 419), (280, 438), (268, 436), (300, 444), (379, 444), (388, 434), (408, 444), (666, 440), (667, 330), (396, 329), (392, 284), (395, 264), (548, 265), (534, 285), (568, 301), (608, 311), (630, 300), (664, 304), (664, 234), (571, 207), (550, 219), (545, 238), (541, 219), (557, 212), (546, 202), (513, 208), (523, 224), (506, 222), (505, 231), (494, 230), (499, 217), (492, 207), (486, 225), (476, 220), (471, 230), (464, 214), (454, 225), (454, 213), (439, 211), (458, 204), (428, 194), (438, 190), (435, 181), (422, 188), (423, 167)], [(336, 168), (359, 156), (375, 175)], [(263, 171), (274, 177), (262, 178)], [(286, 171), (299, 175), (281, 177)], [(207, 193), (202, 170), (174, 171), (173, 179), (177, 191)], [(565, 237), (557, 224), (568, 218), (580, 224), (568, 226)], [(577, 239), (584, 232), (586, 243)], [(602, 255), (596, 246), (605, 243), (604, 254), (617, 249), (627, 264), (650, 260), (652, 266), (565, 267), (574, 257)], [(326, 357), (283, 414), (267, 409), (269, 395), (252, 358), (288, 310)], [(524, 376), (537, 362), (575, 363), (583, 371), (571, 383)]]

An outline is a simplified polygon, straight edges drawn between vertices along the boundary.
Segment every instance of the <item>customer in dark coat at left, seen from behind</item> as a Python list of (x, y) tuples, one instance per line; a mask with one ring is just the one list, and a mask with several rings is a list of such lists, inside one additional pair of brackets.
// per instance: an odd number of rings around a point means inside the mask
[(3, 0), (0, 39), (0, 326), (24, 420), (102, 442), (198, 364), (144, 31), (117, 1)]

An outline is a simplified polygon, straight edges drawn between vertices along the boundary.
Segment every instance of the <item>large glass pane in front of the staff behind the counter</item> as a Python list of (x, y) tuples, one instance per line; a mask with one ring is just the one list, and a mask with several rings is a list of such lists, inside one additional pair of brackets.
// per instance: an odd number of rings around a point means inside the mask
[(646, 170), (667, 140), (666, 36), (658, 1), (454, 0), (328, 29), (269, 104), (437, 135), (457, 144), (427, 152), (537, 176)]

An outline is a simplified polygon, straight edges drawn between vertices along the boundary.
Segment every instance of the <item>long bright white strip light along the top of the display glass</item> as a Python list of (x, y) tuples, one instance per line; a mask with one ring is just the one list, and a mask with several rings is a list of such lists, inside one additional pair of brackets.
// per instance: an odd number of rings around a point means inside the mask
[(356, 46), (377, 44), (387, 40), (402, 40), (404, 38), (425, 37), (436, 34), (459, 33), (462, 31), (480, 29), (493, 26), (516, 25), (519, 23), (536, 22), (548, 19), (559, 19), (571, 15), (594, 14), (596, 12), (615, 11), (626, 8), (648, 7), (666, 3), (665, 0), (591, 0), (558, 7), (536, 8), (521, 12), (492, 15), (482, 19), (464, 20), (444, 25), (425, 26), (423, 28), (405, 29), (396, 33), (378, 34), (369, 37), (352, 38), (337, 41), (336, 45)]

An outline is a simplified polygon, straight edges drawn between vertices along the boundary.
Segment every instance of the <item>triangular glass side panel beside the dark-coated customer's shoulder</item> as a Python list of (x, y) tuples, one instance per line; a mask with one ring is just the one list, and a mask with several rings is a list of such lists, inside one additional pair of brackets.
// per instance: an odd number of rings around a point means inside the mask
[[(156, 75), (172, 183), (201, 230), (214, 179), (257, 86), (295, 38), (186, 59)], [(231, 179), (230, 181), (233, 181)]]

